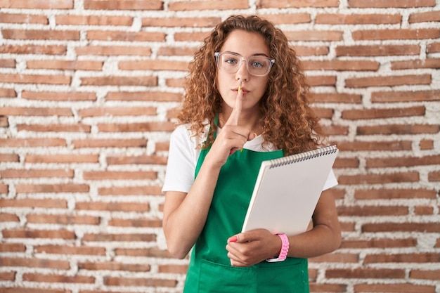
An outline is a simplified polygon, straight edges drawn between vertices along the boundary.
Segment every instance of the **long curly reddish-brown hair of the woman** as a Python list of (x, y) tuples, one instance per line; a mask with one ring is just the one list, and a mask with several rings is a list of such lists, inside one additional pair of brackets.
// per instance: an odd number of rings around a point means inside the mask
[(266, 92), (259, 102), (265, 143), (272, 143), (285, 155), (317, 148), (321, 145), (323, 133), (319, 119), (309, 105), (309, 85), (305, 82), (302, 64), (285, 34), (256, 15), (230, 16), (216, 25), (203, 46), (195, 52), (178, 115), (181, 124), (190, 124), (191, 131), (200, 136), (208, 122), (211, 127), (207, 141), (200, 147), (207, 148), (214, 141), (214, 118), (221, 112), (222, 103), (216, 84), (214, 52), (220, 50), (233, 30), (261, 34), (271, 58), (275, 59)]

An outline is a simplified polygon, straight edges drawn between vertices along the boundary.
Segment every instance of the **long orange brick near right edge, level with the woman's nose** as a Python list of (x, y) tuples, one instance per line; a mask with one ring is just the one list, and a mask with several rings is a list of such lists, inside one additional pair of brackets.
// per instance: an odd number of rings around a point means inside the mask
[(431, 74), (410, 74), (399, 76), (354, 77), (345, 79), (345, 86), (361, 88), (368, 86), (402, 86), (431, 84)]

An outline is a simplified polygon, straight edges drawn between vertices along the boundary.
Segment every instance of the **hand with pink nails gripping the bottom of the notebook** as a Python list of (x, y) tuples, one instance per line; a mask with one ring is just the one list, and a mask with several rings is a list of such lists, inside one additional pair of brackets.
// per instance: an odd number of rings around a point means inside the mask
[(278, 256), (281, 240), (266, 229), (256, 229), (229, 237), (226, 250), (231, 266), (253, 266)]

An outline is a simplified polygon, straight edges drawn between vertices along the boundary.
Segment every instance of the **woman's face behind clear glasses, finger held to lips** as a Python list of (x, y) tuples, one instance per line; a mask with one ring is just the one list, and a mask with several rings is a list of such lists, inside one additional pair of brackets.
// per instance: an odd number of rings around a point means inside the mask
[[(252, 56), (271, 57), (266, 41), (257, 32), (234, 30), (230, 32), (221, 52), (236, 53), (249, 59)], [(238, 86), (242, 86), (242, 111), (257, 110), (258, 102), (266, 91), (268, 74), (264, 77), (251, 75), (247, 71), (246, 62), (242, 61), (238, 71), (228, 73), (217, 68), (217, 87), (223, 98), (223, 107), (233, 108), (238, 93)]]

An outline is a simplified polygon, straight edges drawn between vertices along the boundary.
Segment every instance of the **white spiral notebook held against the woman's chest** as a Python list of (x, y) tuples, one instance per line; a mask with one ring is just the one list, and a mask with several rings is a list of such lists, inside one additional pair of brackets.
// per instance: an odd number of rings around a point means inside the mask
[(330, 145), (262, 162), (242, 232), (257, 228), (273, 234), (305, 232), (337, 152), (336, 145)]

